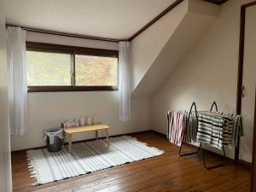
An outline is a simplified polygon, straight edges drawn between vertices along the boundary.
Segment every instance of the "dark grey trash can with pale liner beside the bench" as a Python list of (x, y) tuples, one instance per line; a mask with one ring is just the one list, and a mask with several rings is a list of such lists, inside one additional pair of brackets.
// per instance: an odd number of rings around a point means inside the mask
[(63, 131), (61, 128), (54, 128), (44, 131), (47, 148), (49, 152), (61, 150), (63, 142)]

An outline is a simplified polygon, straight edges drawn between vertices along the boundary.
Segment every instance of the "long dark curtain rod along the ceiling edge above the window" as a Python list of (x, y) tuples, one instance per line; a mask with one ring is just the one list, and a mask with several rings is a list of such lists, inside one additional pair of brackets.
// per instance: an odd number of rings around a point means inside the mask
[(118, 43), (119, 41), (127, 41), (127, 39), (100, 38), (100, 37), (95, 37), (95, 36), (79, 35), (79, 34), (73, 34), (73, 33), (67, 33), (67, 32), (54, 32), (54, 31), (38, 29), (38, 28), (31, 28), (31, 27), (26, 27), (26, 26), (17, 26), (17, 25), (13, 25), (10, 23), (6, 23), (5, 26), (6, 27), (15, 26), (15, 27), (20, 27), (28, 32), (40, 32), (40, 33), (44, 33), (44, 34), (60, 35), (60, 36), (70, 37), (70, 38), (85, 38), (85, 39), (115, 42), (115, 43)]

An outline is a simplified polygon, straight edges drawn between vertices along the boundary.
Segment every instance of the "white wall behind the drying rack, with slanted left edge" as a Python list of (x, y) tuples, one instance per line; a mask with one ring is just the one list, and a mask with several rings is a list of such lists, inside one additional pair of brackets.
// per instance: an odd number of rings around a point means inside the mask
[[(224, 3), (218, 20), (156, 91), (152, 105), (155, 131), (166, 133), (169, 109), (189, 110), (193, 101), (199, 110), (208, 110), (216, 101), (219, 110), (236, 113), (240, 6), (247, 2)], [(228, 150), (228, 156), (233, 157), (233, 152)]]

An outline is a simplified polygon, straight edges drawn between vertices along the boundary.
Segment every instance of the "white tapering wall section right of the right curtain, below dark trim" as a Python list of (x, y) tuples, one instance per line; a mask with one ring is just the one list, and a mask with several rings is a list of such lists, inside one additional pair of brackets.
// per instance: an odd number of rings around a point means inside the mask
[(150, 26), (131, 41), (132, 89), (143, 79), (148, 68), (164, 48), (188, 12), (189, 1), (180, 3), (175, 9)]

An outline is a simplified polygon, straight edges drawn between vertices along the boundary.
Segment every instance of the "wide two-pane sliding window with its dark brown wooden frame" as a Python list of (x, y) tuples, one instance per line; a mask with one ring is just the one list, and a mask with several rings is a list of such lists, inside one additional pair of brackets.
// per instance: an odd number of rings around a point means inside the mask
[(118, 51), (26, 43), (29, 92), (117, 90)]

